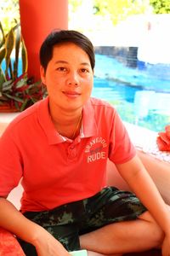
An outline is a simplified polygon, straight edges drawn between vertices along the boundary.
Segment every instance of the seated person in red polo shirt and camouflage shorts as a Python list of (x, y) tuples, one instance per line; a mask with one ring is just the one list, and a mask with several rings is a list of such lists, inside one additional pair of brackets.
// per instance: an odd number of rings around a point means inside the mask
[[(162, 255), (170, 255), (167, 206), (116, 110), (90, 97), (91, 42), (79, 32), (54, 31), (40, 61), (48, 97), (20, 113), (0, 141), (0, 226), (30, 256), (80, 249), (115, 255), (161, 246)], [(108, 159), (139, 199), (106, 186)], [(20, 179), (18, 212), (5, 198)]]

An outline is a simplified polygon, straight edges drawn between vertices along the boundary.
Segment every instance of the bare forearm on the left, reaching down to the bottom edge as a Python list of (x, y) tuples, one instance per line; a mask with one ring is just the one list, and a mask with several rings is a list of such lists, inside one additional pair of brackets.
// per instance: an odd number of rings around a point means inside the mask
[(54, 236), (27, 219), (4, 197), (0, 197), (0, 212), (0, 226), (34, 245), (38, 256), (70, 255)]

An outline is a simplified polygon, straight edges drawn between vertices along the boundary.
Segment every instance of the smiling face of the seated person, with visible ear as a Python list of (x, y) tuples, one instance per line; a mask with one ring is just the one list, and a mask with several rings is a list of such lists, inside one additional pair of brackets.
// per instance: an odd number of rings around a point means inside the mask
[(41, 67), (41, 77), (47, 86), (49, 107), (53, 111), (82, 108), (94, 84), (94, 72), (87, 53), (72, 43), (54, 46), (46, 72)]

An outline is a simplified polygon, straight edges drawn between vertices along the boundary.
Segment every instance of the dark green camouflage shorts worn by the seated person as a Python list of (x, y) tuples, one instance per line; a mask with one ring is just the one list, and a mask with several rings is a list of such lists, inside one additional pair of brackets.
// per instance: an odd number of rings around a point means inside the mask
[[(50, 211), (26, 212), (25, 216), (48, 230), (68, 251), (74, 251), (80, 249), (80, 235), (106, 224), (136, 219), (145, 211), (146, 208), (132, 193), (108, 187), (88, 199)], [(26, 255), (37, 255), (31, 244), (20, 241), (20, 245)]]

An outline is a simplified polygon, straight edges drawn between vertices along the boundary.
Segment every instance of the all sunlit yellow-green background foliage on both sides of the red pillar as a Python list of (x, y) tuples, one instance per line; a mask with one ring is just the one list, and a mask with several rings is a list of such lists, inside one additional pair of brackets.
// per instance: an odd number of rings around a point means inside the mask
[[(88, 1), (88, 0), (87, 0)], [(83, 0), (69, 0), (71, 12), (76, 13)], [(169, 0), (93, 0), (94, 15), (109, 16), (116, 25), (129, 15), (147, 13), (150, 8), (155, 14), (170, 14)], [(0, 19), (5, 31), (8, 31), (14, 19), (20, 21), (19, 0), (0, 1)]]

